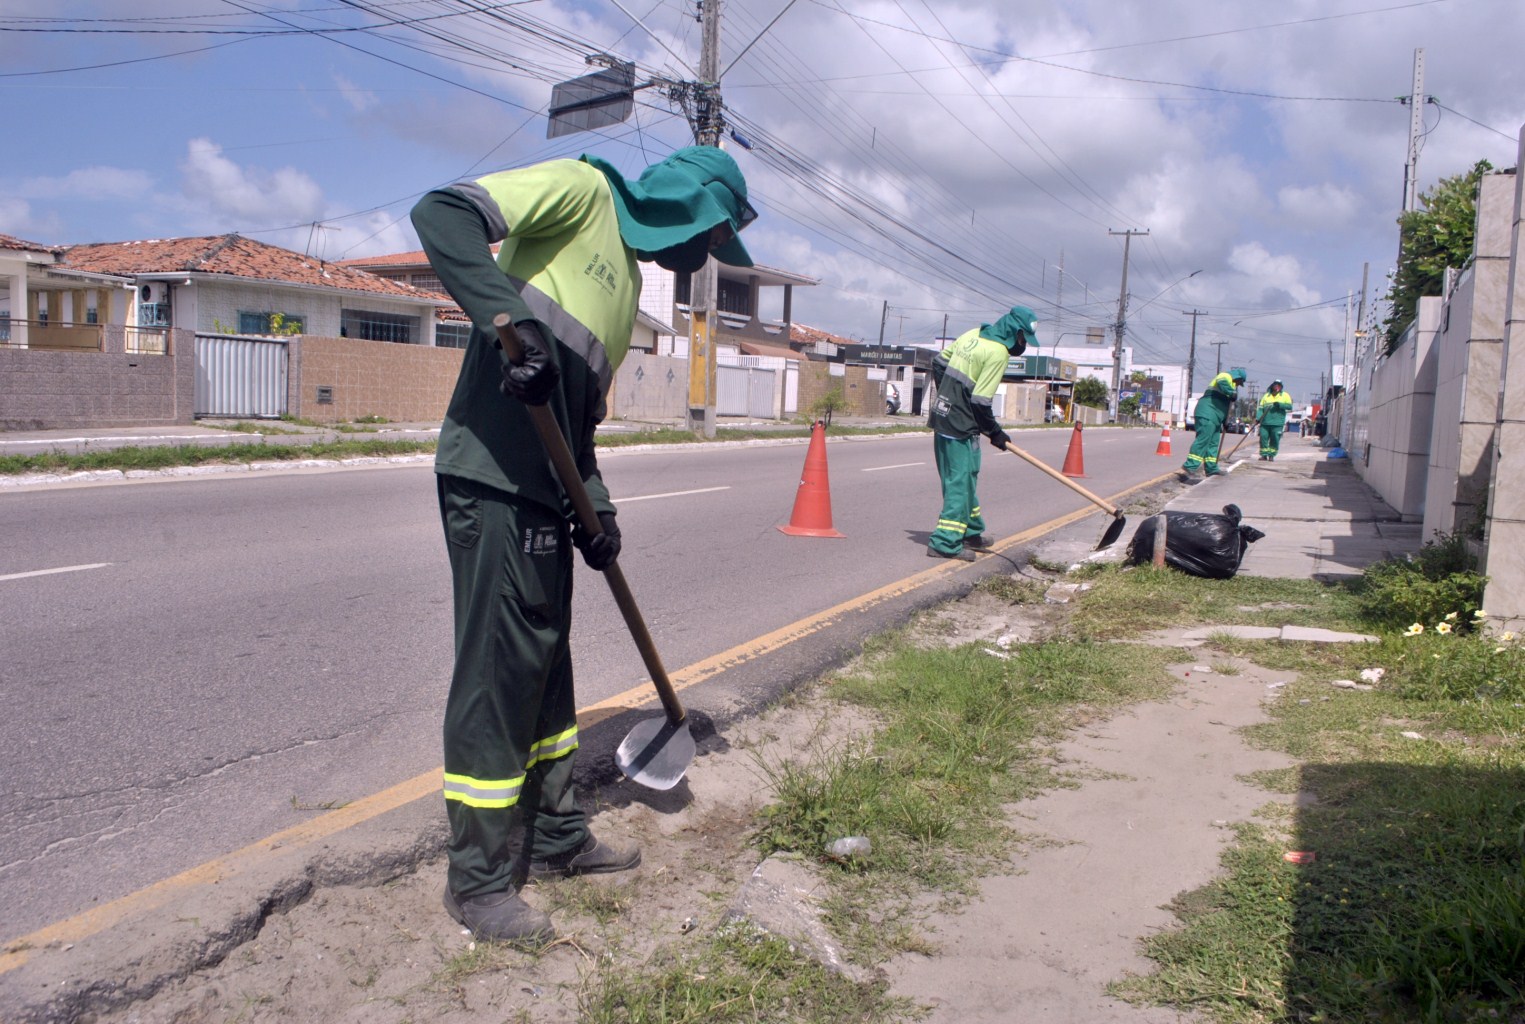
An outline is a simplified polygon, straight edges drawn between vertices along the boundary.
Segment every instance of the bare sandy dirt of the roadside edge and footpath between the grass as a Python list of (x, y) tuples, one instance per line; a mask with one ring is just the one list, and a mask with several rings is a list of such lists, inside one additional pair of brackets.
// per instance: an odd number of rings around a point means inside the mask
[[(976, 592), (936, 612), (933, 632), (1022, 639), (1057, 613)], [(1162, 906), (1173, 896), (1212, 877), (1226, 826), (1272, 800), (1238, 778), (1286, 763), (1237, 733), (1263, 716), (1286, 673), (1214, 661), (1215, 670), (1186, 661), (1173, 697), (1093, 722), (1063, 745), (1077, 787), (1010, 809), (1013, 827), (1039, 841), (958, 911), (927, 913), (932, 952), (880, 968), (895, 995), (947, 1024), (1186, 1019), (1118, 1003), (1106, 984), (1150, 969), (1138, 940), (1171, 926)], [(444, 864), (432, 861), (384, 885), (320, 888), (217, 968), (92, 1019), (576, 1021), (595, 966), (642, 964), (721, 925), (758, 867), (747, 835), (767, 800), (761, 763), (810, 757), (862, 728), (851, 711), (807, 696), (729, 729), (724, 749), (700, 757), (669, 794), (624, 784), (584, 794), (595, 829), (639, 841), (644, 862), (628, 876), (528, 888), (563, 935), (538, 955), (473, 943), (444, 913)]]

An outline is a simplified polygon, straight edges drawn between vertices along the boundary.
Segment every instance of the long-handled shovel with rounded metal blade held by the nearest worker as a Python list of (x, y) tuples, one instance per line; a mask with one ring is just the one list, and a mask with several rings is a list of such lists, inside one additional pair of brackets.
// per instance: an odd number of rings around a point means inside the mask
[[(508, 314), (499, 313), (494, 316), (493, 327), (497, 328), (499, 343), (508, 354), (509, 362), (525, 362), (525, 346), (518, 340), (518, 331), (514, 330)], [(561, 436), (561, 430), (557, 427), (555, 414), (551, 412), (549, 406), (525, 407), (529, 409), (535, 433), (540, 435), (540, 443), (544, 446), (546, 455), (551, 456), (551, 464), (561, 481), (561, 488), (572, 501), (578, 523), (583, 525), (583, 530), (589, 536), (596, 537), (604, 530), (598, 522), (598, 513), (593, 511), (593, 502), (587, 496), (587, 487), (583, 485), (583, 476), (572, 459), (566, 438)], [(640, 609), (636, 606), (636, 598), (630, 592), (630, 584), (625, 583), (625, 574), (621, 571), (618, 562), (604, 569), (604, 578), (615, 595), (619, 613), (625, 617), (625, 627), (636, 641), (636, 649), (640, 650), (640, 659), (647, 664), (647, 673), (651, 676), (651, 684), (657, 688), (657, 696), (662, 697), (662, 710), (666, 713), (665, 717), (647, 719), (630, 729), (619, 749), (615, 751), (615, 763), (619, 765), (619, 771), (625, 774), (625, 778), (633, 783), (640, 783), (650, 789), (673, 789), (683, 778), (689, 762), (694, 760), (694, 737), (688, 731), (688, 714), (683, 711), (683, 705), (679, 704), (677, 691), (673, 690), (673, 681), (668, 679), (666, 668), (662, 667), (657, 646), (651, 642), (651, 632), (647, 630), (647, 623), (640, 617)]]

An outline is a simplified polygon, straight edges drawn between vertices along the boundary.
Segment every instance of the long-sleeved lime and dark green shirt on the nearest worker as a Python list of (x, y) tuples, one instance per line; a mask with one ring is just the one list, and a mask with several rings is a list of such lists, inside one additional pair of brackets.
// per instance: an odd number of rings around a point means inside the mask
[[(551, 160), (429, 192), (413, 226), (445, 290), (471, 317), (435, 472), (569, 511), (523, 403), (499, 391), (493, 317), (537, 320), (561, 382), (551, 398), (595, 508), (613, 510), (593, 430), (630, 345), (640, 298), (636, 255), (619, 235), (608, 180), (580, 160)], [(502, 241), (494, 264), (490, 246)]]

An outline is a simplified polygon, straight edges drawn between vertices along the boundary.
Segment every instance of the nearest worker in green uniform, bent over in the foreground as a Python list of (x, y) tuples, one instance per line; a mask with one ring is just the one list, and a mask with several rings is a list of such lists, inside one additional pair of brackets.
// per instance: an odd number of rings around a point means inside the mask
[[(711, 255), (750, 267), (737, 232), (755, 217), (735, 160), (702, 147), (636, 182), (584, 156), (461, 182), (413, 208), (435, 272), (473, 324), (435, 472), (456, 636), (444, 728), (445, 908), (477, 937), (554, 935), (518, 894), (526, 877), (640, 862), (634, 844), (595, 838), (573, 800), (570, 548), (598, 571), (619, 555), (593, 430), (630, 345), (637, 259), (679, 273)], [(523, 340), (518, 365), (497, 343), (500, 313)], [(573, 523), (526, 404), (554, 411), (601, 534)]]

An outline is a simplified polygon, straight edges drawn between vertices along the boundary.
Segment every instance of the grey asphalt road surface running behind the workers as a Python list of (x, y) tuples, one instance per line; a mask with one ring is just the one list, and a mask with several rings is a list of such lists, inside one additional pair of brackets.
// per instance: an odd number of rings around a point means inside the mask
[[(1156, 440), (1087, 432), (1083, 484), (1109, 494), (1167, 472), (1177, 459), (1154, 456)], [(1068, 441), (1017, 436), (1051, 465)], [(673, 675), (946, 565), (924, 555), (938, 513), (926, 435), (828, 453), (843, 540), (776, 530), (802, 441), (601, 458), (621, 563)], [(997, 539), (1087, 505), (1020, 459), (985, 459)], [(3, 493), (0, 522), (0, 940), (438, 768), (451, 626), (427, 465)], [(967, 586), (947, 568), (918, 597), (845, 615), (685, 700), (718, 717), (819, 670)], [(576, 584), (587, 707), (645, 671), (602, 580), (580, 568)]]

